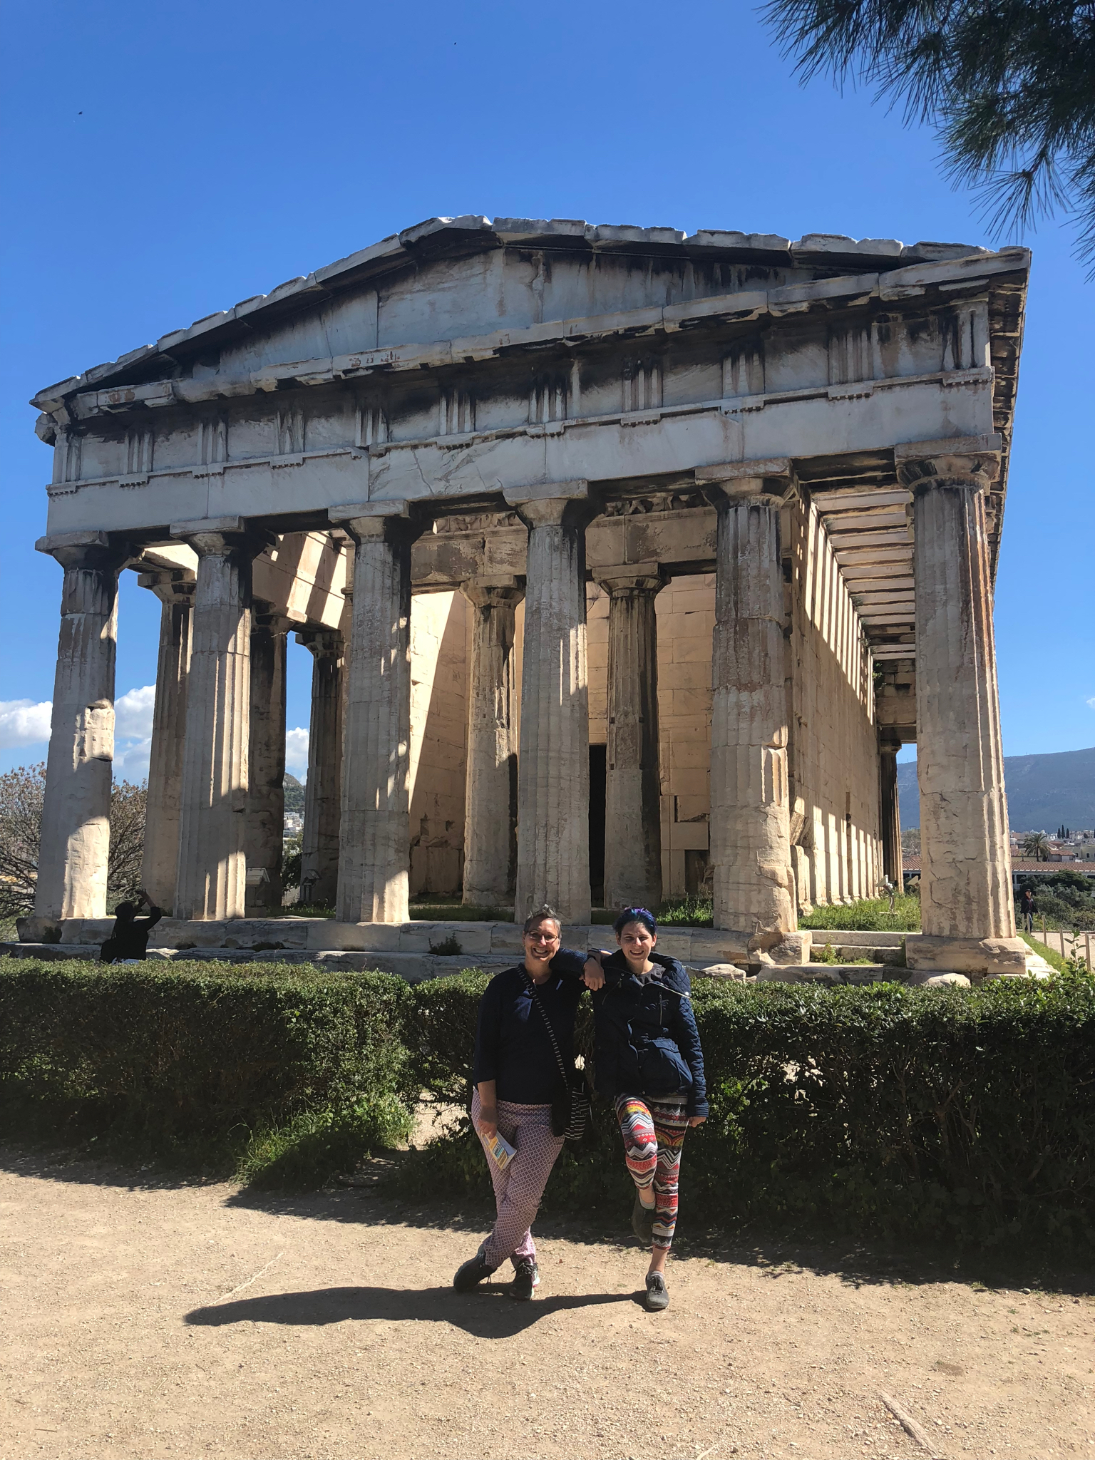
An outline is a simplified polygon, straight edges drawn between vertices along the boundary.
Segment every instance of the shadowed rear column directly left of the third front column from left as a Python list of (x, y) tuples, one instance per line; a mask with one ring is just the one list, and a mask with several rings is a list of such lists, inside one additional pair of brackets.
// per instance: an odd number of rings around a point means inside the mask
[(343, 637), (337, 629), (304, 629), (296, 642), (312, 656), (301, 901), (334, 907), (342, 818)]

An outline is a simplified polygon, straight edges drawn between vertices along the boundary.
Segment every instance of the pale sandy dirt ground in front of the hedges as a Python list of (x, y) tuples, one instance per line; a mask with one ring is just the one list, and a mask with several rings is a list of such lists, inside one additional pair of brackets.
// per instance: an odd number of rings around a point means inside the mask
[(0, 1152), (0, 1460), (923, 1460), (880, 1393), (943, 1457), (1095, 1454), (1082, 1282), (694, 1245), (647, 1314), (634, 1245), (545, 1223), (536, 1301), (458, 1296), (483, 1231)]

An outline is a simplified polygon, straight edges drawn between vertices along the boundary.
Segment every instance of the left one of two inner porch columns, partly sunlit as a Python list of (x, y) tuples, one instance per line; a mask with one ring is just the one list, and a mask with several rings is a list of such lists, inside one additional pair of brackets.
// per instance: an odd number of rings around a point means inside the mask
[(515, 578), (472, 578), (472, 675), (464, 797), (464, 896), (511, 907), (517, 877)]

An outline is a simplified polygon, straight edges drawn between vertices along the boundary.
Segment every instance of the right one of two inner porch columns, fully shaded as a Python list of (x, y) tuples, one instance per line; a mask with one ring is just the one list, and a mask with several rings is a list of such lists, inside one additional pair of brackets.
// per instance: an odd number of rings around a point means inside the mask
[(609, 594), (609, 743), (604, 790), (604, 905), (661, 902), (656, 562), (596, 574)]

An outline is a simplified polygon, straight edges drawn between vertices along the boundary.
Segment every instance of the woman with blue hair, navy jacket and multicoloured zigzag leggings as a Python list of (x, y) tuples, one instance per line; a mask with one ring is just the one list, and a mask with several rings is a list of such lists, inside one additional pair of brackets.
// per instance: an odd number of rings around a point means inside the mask
[(657, 923), (625, 908), (613, 929), (619, 952), (604, 961), (594, 994), (597, 1089), (615, 1102), (623, 1158), (635, 1183), (631, 1228), (650, 1244), (647, 1308), (669, 1307), (666, 1259), (677, 1219), (680, 1148), (707, 1118), (704, 1054), (683, 964), (654, 952)]

